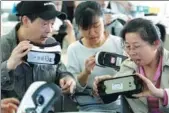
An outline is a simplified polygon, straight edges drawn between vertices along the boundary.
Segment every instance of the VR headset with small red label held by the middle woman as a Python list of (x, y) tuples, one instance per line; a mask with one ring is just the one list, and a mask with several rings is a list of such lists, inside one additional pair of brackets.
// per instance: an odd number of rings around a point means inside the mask
[(97, 66), (111, 67), (116, 70), (119, 70), (120, 65), (127, 58), (128, 57), (116, 53), (101, 51), (96, 53), (95, 62)]

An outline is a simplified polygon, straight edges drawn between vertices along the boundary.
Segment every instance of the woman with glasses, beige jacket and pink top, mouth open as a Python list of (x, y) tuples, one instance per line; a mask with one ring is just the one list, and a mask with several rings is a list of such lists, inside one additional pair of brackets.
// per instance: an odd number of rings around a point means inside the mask
[[(162, 47), (161, 34), (151, 21), (131, 20), (122, 30), (125, 51), (129, 59), (123, 62), (116, 76), (137, 73), (145, 86), (143, 92), (135, 94), (138, 99), (127, 99), (134, 113), (169, 112), (169, 51)], [(96, 77), (98, 82), (112, 76)]]

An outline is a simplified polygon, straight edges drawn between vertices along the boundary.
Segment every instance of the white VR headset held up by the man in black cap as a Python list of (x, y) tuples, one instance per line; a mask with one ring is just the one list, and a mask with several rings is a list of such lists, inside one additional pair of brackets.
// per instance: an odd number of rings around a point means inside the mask
[(24, 61), (30, 64), (58, 64), (61, 59), (61, 47), (58, 42), (54, 42), (44, 45), (31, 42), (33, 47), (24, 57)]

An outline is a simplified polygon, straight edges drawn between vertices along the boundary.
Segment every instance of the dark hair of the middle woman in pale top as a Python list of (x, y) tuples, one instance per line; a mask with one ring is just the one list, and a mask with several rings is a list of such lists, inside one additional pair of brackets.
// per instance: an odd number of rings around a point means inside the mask
[(103, 16), (103, 10), (96, 1), (80, 3), (75, 10), (75, 22), (82, 29), (88, 29), (95, 23), (96, 17)]

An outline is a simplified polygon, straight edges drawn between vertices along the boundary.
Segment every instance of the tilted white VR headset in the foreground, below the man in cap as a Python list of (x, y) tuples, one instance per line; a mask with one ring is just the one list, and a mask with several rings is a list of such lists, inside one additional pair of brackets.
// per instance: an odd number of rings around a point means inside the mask
[(34, 82), (26, 91), (17, 113), (48, 113), (61, 97), (61, 89), (54, 83)]

